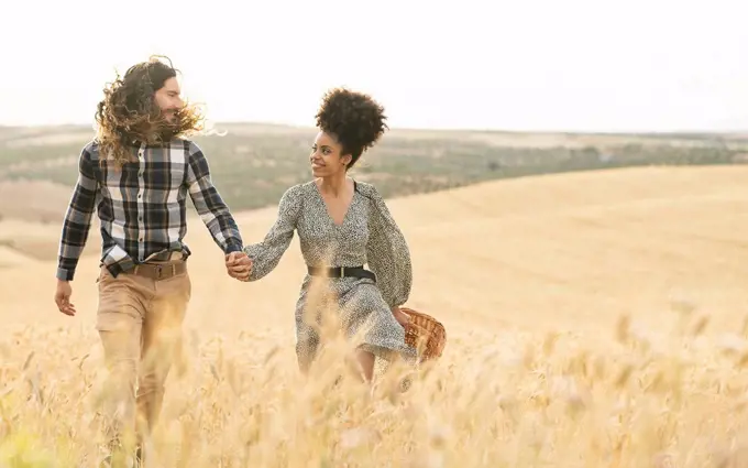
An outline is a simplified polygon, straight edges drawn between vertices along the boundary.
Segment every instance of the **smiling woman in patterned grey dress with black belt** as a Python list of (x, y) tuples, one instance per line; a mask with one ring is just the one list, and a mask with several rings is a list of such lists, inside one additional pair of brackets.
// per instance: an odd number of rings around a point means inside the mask
[(363, 336), (356, 360), (366, 381), (376, 357), (416, 358), (405, 344), (408, 316), (399, 309), (413, 281), (408, 246), (376, 188), (348, 176), (387, 129), (383, 112), (366, 95), (328, 91), (309, 155), (315, 178), (286, 191), (265, 239), (244, 248), (252, 260), (248, 280), (256, 281), (278, 264), (294, 231), (299, 235), (308, 272), (296, 305), (296, 352), (305, 373), (320, 344), (320, 317), (330, 308), (349, 338)]

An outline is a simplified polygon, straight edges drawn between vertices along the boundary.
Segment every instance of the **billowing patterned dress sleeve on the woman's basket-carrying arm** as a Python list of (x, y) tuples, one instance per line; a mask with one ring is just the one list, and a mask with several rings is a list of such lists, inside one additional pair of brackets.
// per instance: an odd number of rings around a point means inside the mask
[(400, 306), (408, 301), (413, 287), (410, 250), (376, 188), (366, 184), (363, 193), (371, 203), (366, 244), (369, 268), (376, 274), (387, 305), (391, 308)]

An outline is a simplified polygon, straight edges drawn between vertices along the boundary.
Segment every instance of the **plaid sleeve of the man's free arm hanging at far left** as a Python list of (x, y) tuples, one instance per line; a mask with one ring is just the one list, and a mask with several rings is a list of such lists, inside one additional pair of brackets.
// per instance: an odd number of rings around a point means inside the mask
[(98, 183), (89, 146), (84, 148), (78, 160), (78, 182), (63, 221), (63, 232), (57, 253), (57, 279), (73, 281), (80, 253), (86, 247), (91, 217), (96, 206)]

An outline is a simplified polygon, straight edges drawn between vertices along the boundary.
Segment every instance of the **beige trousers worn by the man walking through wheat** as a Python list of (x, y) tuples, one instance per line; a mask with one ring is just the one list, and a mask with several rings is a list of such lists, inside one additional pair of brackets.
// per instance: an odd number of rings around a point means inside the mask
[(108, 371), (103, 435), (110, 447), (132, 447), (161, 413), (164, 383), (182, 346), (191, 295), (189, 274), (164, 280), (101, 268), (97, 329)]

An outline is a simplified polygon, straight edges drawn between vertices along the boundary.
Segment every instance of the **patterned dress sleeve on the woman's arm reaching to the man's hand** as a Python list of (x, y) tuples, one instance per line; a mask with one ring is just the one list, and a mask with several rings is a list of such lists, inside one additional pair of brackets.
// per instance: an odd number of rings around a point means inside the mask
[(257, 281), (272, 272), (290, 246), (302, 205), (299, 188), (294, 186), (283, 194), (278, 204), (277, 219), (263, 241), (244, 247), (244, 253), (252, 259), (250, 281)]

